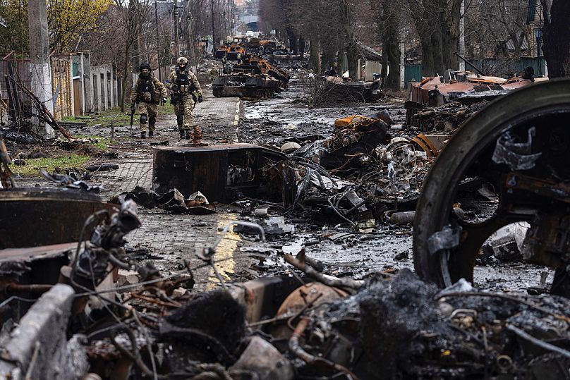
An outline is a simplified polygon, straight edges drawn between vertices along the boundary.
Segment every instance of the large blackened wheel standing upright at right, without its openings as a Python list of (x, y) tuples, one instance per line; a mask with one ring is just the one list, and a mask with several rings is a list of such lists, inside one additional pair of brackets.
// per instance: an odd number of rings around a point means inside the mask
[[(568, 166), (570, 159), (570, 144), (564, 147), (562, 140), (556, 141), (557, 133), (570, 138), (570, 80), (551, 80), (516, 90), (489, 104), (454, 134), (432, 166), (416, 208), (413, 259), (420, 278), (438, 286), (449, 286), (460, 278), (473, 281), (475, 257), (492, 233), (516, 221), (533, 222), (533, 215), (513, 212), (509, 207), (516, 202), (538, 204), (544, 200), (519, 193), (521, 201), (508, 191), (499, 193), (497, 211), (483, 223), (465, 223), (452, 212), (459, 184), (465, 178), (483, 178), (501, 186), (501, 178), (511, 169), (491, 159), (497, 139), (507, 131), (523, 136), (533, 126), (537, 131), (533, 152), (537, 149), (544, 154), (534, 168), (521, 174), (552, 180), (547, 175), (549, 165)], [(562, 146), (564, 152), (553, 156), (552, 144)], [(563, 178), (558, 176), (556, 182), (569, 181), (570, 172), (564, 167), (560, 171)], [(459, 246), (430, 254), (430, 237), (444, 226), (458, 225), (462, 228)]]

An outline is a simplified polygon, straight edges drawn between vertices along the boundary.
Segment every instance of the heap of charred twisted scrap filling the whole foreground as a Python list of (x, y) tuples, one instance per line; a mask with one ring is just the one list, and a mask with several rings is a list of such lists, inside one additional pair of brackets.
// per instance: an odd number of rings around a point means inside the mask
[[(293, 277), (234, 284), (220, 277), (225, 289), (190, 293), (197, 266), (185, 261), (161, 276), (128, 259), (124, 236), (140, 226), (132, 201), (112, 215), (94, 214), (85, 230), (97, 221), (89, 240), (66, 248), (78, 254), (61, 267), (59, 282), (72, 286), (44, 286), (17, 329), (4, 323), (2, 374), (51, 373), (50, 360), (58, 360), (61, 379), (541, 379), (544, 371), (555, 379), (570, 363), (564, 298), (480, 292), (464, 280), (439, 290), (407, 269), (355, 281), (323, 273), (305, 250), (283, 256)], [(214, 269), (224, 231), (198, 253)], [(30, 258), (20, 266), (12, 259), (12, 269), (8, 262), (4, 276), (31, 270)], [(112, 266), (138, 267), (139, 282), (106, 284)], [(5, 291), (37, 290), (16, 282)], [(17, 333), (32, 325), (32, 336)]]

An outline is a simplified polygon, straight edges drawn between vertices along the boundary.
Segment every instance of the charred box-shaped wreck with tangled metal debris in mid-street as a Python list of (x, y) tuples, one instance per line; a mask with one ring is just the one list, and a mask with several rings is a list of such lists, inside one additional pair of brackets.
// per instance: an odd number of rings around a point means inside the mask
[[(284, 146), (289, 154), (248, 144), (157, 147), (153, 190), (171, 194), (170, 200), (200, 191), (217, 202), (280, 204), (289, 214), (321, 210), (342, 223), (370, 229), (387, 210), (415, 202), (446, 138), (391, 137), (389, 123), (382, 112), (340, 118), (330, 137), (303, 142), (303, 147)], [(140, 204), (148, 201), (144, 194)], [(281, 233), (293, 231), (284, 221), (259, 221)]]

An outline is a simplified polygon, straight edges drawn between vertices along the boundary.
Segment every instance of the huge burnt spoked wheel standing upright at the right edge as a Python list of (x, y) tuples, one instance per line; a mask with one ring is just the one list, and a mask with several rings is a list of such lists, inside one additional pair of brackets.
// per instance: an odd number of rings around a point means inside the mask
[[(565, 268), (570, 262), (569, 158), (570, 80), (524, 87), (470, 118), (423, 185), (413, 225), (416, 273), (438, 286), (460, 278), (473, 281), (485, 240), (519, 221), (530, 223), (524, 258)], [(495, 190), (495, 202), (479, 195), (482, 185)], [(466, 212), (463, 217), (452, 212), (456, 202)]]

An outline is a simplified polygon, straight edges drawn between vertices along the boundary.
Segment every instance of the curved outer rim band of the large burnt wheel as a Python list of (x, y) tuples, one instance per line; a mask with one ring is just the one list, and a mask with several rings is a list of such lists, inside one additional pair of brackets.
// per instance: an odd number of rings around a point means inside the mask
[(522, 123), (523, 120), (552, 115), (561, 110), (564, 113), (570, 111), (570, 80), (533, 84), (492, 102), (469, 118), (454, 134), (432, 166), (416, 207), (413, 262), (420, 278), (438, 286), (447, 286), (449, 280), (454, 283), (460, 278), (473, 281), (475, 255), (472, 252), (462, 255), (461, 249), (449, 250), (449, 259), (445, 259), (441, 251), (430, 255), (430, 237), (449, 224), (459, 182), (485, 149), (489, 149), (517, 121)]

